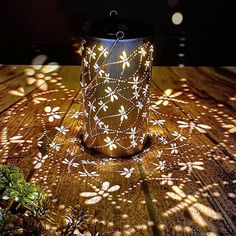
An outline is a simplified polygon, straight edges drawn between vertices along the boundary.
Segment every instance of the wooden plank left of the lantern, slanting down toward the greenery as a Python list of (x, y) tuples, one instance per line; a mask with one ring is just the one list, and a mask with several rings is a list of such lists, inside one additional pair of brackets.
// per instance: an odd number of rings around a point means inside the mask
[[(45, 120), (48, 120), (53, 114), (45, 112), (44, 109), (46, 106), (50, 106), (51, 109), (59, 107), (60, 109), (55, 112), (54, 117), (59, 115), (60, 118), (63, 118), (74, 96), (79, 91), (79, 73), (80, 69), (78, 67), (64, 68), (60, 72), (63, 79), (59, 83), (52, 84), (47, 91), (34, 90), (32, 94), (24, 96), (1, 114), (1, 133), (2, 137), (7, 140), (6, 145), (4, 144), (5, 141), (3, 142), (2, 155), (4, 158), (2, 161), (14, 157), (12, 162), (15, 160), (15, 163), (20, 165), (21, 161), (24, 163), (27, 159), (27, 155), (35, 156), (37, 154), (37, 143), (42, 136), (47, 135), (53, 138), (55, 126), (59, 125), (60, 119), (54, 118), (53, 122), (48, 122), (46, 127)], [(47, 130), (50, 130), (50, 132), (47, 133)], [(18, 139), (21, 141), (14, 140), (16, 137), (20, 137)], [(10, 153), (9, 146), (11, 147)], [(24, 146), (27, 147), (22, 148)]]

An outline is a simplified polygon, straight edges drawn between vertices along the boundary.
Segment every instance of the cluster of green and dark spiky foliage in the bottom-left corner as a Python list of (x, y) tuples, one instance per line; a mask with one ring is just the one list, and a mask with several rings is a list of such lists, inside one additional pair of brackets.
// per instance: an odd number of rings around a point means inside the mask
[[(69, 236), (86, 232), (91, 236), (110, 235), (97, 225), (89, 225), (88, 210), (80, 205), (66, 209), (62, 225), (55, 223), (53, 214), (44, 190), (26, 182), (19, 168), (0, 165), (1, 236)], [(53, 226), (53, 230), (48, 226)]]

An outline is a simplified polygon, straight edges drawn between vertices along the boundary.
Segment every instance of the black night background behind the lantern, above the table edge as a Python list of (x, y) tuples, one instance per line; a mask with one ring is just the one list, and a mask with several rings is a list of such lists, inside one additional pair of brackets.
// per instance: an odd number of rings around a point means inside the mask
[[(0, 0), (0, 63), (29, 64), (45, 53), (79, 64), (82, 26), (113, 9), (152, 24), (157, 65), (236, 65), (235, 0)], [(175, 12), (184, 17), (178, 26)]]

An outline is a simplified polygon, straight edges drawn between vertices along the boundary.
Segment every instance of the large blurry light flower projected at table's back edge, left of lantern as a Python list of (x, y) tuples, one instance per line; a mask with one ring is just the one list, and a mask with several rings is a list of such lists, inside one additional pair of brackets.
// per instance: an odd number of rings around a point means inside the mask
[(52, 79), (50, 73), (55, 72), (59, 68), (59, 65), (56, 62), (44, 65), (46, 60), (46, 55), (39, 55), (33, 59), (32, 65), (25, 69), (25, 74), (27, 75), (26, 83), (28, 85), (35, 84), (43, 91), (48, 89), (47, 80), (51, 80), (52, 82), (57, 81), (57, 79)]

